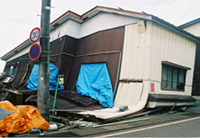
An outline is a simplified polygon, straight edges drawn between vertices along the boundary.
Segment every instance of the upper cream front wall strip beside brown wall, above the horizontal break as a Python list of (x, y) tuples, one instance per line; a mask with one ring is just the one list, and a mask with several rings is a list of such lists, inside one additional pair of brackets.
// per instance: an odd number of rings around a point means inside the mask
[(120, 80), (139, 81), (150, 78), (149, 29), (144, 21), (126, 26)]

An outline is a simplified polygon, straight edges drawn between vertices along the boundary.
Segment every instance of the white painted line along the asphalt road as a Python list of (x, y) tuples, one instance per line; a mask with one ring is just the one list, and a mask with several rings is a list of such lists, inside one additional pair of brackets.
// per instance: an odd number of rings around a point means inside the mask
[(119, 135), (123, 135), (123, 134), (134, 133), (134, 132), (138, 132), (138, 131), (143, 131), (143, 130), (158, 128), (158, 127), (163, 127), (163, 126), (169, 126), (169, 125), (174, 125), (174, 124), (179, 124), (179, 123), (183, 123), (183, 122), (187, 122), (187, 121), (192, 121), (192, 120), (196, 120), (196, 119), (200, 119), (200, 116), (199, 117), (195, 117), (195, 118), (180, 120), (180, 121), (176, 121), (176, 122), (165, 123), (165, 124), (160, 124), (160, 125), (146, 127), (146, 128), (140, 128), (140, 129), (136, 129), (136, 130), (119, 132), (119, 133), (115, 133), (115, 134), (108, 134), (108, 135), (99, 136), (99, 137), (95, 137), (95, 138), (105, 138), (105, 137), (119, 136)]

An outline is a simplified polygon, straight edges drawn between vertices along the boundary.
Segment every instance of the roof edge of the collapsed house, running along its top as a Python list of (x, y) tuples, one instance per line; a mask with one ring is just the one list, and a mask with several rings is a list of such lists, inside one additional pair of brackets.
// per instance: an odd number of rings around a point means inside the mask
[[(96, 6), (93, 9), (84, 13), (83, 15), (78, 15), (72, 11), (67, 11), (66, 13), (64, 13), (63, 15), (58, 17), (56, 20), (54, 20), (50, 24), (50, 31), (54, 30), (55, 28), (57, 28), (62, 23), (66, 22), (67, 20), (73, 20), (75, 22), (82, 24), (82, 23), (86, 22), (87, 20), (89, 20), (90, 18), (92, 18), (102, 12), (103, 13), (112, 13), (112, 14), (117, 14), (117, 15), (122, 15), (122, 16), (128, 16), (128, 17), (134, 17), (134, 18), (147, 20), (147, 21), (152, 21), (157, 24), (168, 27), (170, 29), (173, 29), (174, 31), (183, 34), (184, 36), (190, 38), (191, 40), (193, 40), (195, 42), (199, 42), (199, 39), (196, 36), (186, 32), (186, 31), (183, 31), (182, 29), (180, 29), (180, 28), (170, 24), (169, 22), (166, 22), (156, 16), (153, 16), (153, 15), (150, 15), (150, 14), (147, 14), (144, 12), (139, 13), (139, 12), (133, 12), (133, 11), (123, 10), (123, 9), (114, 9), (114, 8), (108, 8), (108, 7), (102, 7), (102, 6)], [(8, 52), (4, 56), (2, 56), (1, 60), (4, 60), (4, 61), (8, 60), (10, 57), (15, 55), (19, 51), (27, 48), (30, 44), (31, 44), (31, 42), (29, 39), (25, 40), (19, 46), (17, 46), (13, 50), (11, 50), (10, 52)]]

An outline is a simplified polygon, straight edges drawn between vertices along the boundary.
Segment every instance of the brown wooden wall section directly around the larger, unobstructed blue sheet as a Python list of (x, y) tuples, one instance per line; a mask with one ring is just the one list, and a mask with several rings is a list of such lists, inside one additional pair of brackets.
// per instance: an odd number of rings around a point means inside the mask
[(117, 85), (123, 41), (124, 27), (101, 31), (78, 40), (72, 70), (65, 88), (75, 90), (81, 64), (106, 63), (114, 89)]

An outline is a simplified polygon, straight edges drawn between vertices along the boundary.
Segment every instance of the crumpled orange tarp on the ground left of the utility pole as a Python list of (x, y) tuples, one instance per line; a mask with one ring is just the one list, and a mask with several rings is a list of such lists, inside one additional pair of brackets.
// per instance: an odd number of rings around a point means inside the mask
[(49, 123), (36, 107), (30, 105), (14, 106), (9, 101), (0, 102), (0, 108), (14, 113), (0, 120), (0, 137), (9, 133), (22, 134), (33, 128), (48, 130)]

